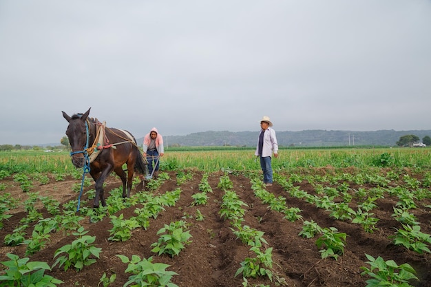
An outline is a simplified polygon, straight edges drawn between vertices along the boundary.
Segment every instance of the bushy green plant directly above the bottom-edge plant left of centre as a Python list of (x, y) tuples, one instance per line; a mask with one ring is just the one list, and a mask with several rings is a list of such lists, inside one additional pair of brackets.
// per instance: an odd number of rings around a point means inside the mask
[(168, 254), (171, 257), (177, 255), (185, 248), (185, 244), (189, 244), (189, 238), (191, 237), (190, 231), (184, 231), (186, 222), (180, 220), (177, 222), (171, 222), (171, 224), (165, 224), (165, 227), (160, 228), (157, 235), (160, 235), (158, 242), (151, 244), (151, 252)]

